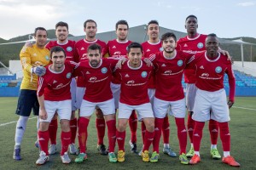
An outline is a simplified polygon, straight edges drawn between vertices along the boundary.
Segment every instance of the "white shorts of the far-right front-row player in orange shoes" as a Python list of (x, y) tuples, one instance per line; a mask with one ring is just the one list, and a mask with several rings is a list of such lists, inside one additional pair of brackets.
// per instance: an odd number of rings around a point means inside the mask
[[(211, 109), (212, 112), (210, 114)], [(192, 118), (198, 122), (206, 122), (210, 119), (217, 122), (230, 121), (230, 111), (227, 105), (225, 90), (220, 89), (216, 92), (207, 92), (197, 89)]]

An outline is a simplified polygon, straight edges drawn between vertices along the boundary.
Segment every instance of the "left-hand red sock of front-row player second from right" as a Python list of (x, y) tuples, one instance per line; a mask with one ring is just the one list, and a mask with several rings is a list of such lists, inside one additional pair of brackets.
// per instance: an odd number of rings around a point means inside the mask
[(161, 138), (161, 131), (163, 127), (163, 118), (154, 118), (154, 140), (153, 140), (153, 151), (159, 153), (159, 144)]

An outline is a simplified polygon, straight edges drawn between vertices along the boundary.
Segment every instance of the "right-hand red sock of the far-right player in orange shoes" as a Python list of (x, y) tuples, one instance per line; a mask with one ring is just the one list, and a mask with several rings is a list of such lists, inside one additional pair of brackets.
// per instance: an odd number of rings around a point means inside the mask
[(224, 151), (230, 151), (230, 128), (229, 122), (218, 122), (220, 139)]

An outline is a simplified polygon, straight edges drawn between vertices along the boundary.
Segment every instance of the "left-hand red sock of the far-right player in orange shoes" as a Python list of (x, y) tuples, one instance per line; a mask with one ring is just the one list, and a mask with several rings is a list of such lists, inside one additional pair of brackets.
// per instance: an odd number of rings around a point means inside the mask
[(202, 130), (205, 126), (205, 122), (197, 122), (195, 121), (194, 133), (193, 133), (193, 145), (194, 150), (200, 150), (201, 138), (202, 138)]

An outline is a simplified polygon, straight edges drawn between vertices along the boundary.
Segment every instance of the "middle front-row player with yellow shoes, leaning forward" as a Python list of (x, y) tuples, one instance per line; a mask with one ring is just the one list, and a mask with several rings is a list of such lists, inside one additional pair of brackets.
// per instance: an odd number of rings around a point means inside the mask
[(137, 111), (140, 121), (146, 126), (143, 141), (143, 161), (149, 161), (148, 149), (154, 140), (154, 114), (148, 99), (148, 79), (153, 71), (143, 61), (143, 47), (132, 42), (128, 46), (128, 61), (121, 69), (115, 71), (115, 76), (121, 81), (119, 99), (119, 116), (116, 139), (119, 145), (118, 161), (125, 161), (125, 128), (131, 112)]

